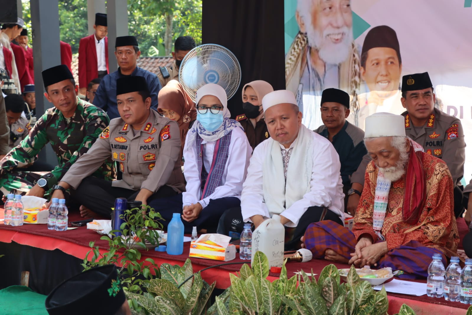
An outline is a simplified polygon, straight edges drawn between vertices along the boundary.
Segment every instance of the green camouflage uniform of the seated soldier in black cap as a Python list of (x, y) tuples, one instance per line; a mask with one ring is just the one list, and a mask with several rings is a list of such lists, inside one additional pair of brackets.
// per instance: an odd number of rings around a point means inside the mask
[[(110, 119), (104, 111), (79, 98), (76, 112), (70, 119), (66, 119), (55, 107), (48, 109), (20, 145), (13, 148), (1, 161), (0, 189), (4, 194), (12, 190), (26, 193), (40, 177), (47, 179), (48, 189), (51, 188), (88, 151), (109, 123)], [(21, 171), (21, 168), (31, 165), (37, 159), (36, 155), (48, 142), (57, 155), (58, 166), (46, 174)], [(114, 179), (114, 162), (107, 159), (94, 175)]]

